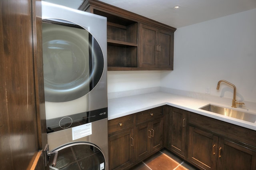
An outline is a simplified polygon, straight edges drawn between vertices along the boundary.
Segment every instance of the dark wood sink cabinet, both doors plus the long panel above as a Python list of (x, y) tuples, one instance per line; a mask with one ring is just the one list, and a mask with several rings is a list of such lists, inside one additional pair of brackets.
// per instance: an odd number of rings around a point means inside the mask
[(189, 122), (190, 163), (206, 170), (256, 169), (254, 130), (195, 113), (190, 113)]

